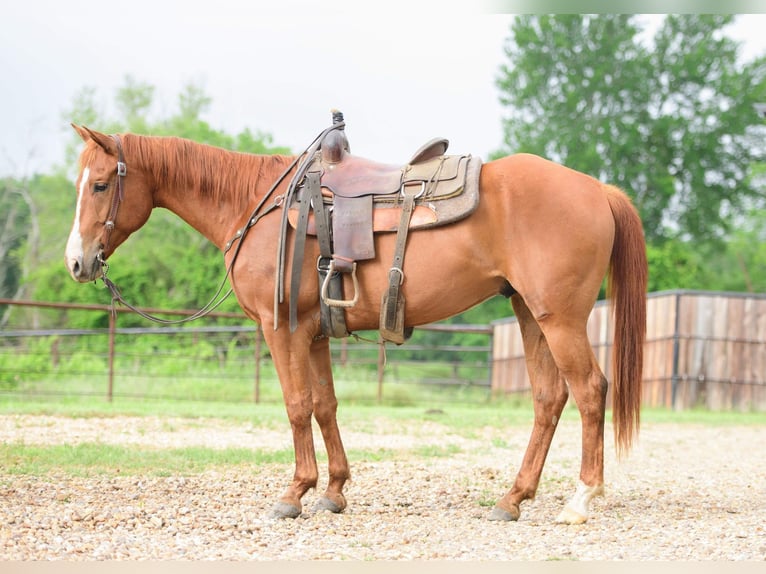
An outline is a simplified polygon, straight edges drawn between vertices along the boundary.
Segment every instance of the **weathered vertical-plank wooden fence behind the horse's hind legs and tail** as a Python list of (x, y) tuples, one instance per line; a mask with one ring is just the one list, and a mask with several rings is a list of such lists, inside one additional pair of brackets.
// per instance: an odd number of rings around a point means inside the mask
[[(588, 320), (611, 380), (613, 322), (599, 302)], [(493, 324), (492, 392), (527, 392), (515, 318)], [(611, 395), (607, 397), (611, 401)], [(766, 294), (663, 291), (647, 298), (643, 404), (675, 409), (766, 410)]]

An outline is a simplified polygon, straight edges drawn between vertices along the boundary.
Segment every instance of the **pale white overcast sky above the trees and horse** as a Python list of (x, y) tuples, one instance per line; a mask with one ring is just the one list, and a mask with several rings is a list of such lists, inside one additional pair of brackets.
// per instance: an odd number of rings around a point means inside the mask
[[(264, 3), (265, 4), (265, 3)], [(155, 86), (155, 113), (194, 82), (215, 129), (248, 127), (301, 151), (346, 117), (353, 153), (401, 163), (432, 137), (484, 159), (502, 144), (495, 79), (512, 16), (481, 3), (309, 0), (26, 0), (0, 8), (0, 176), (61, 163), (63, 117), (82, 88), (113, 112), (131, 75)], [(351, 6), (351, 8), (349, 8)], [(361, 7), (367, 8), (361, 8)], [(408, 7), (404, 9), (404, 7)], [(432, 7), (432, 6), (431, 6)], [(766, 15), (732, 30), (745, 57), (766, 52)], [(96, 129), (99, 126), (91, 126)]]

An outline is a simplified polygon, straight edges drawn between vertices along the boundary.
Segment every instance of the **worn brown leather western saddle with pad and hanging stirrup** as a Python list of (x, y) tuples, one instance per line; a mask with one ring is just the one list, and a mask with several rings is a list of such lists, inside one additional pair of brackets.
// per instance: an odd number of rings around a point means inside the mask
[[(350, 153), (343, 114), (333, 111), (333, 124), (306, 150), (285, 197), (277, 262), (277, 302), (284, 301), (286, 231), (295, 230), (290, 293), (300, 290), (304, 248), (316, 236), (320, 256), (322, 334), (346, 337), (345, 309), (359, 298), (357, 262), (375, 257), (375, 233), (396, 232), (388, 288), (381, 301), (380, 332), (385, 340), (403, 343), (405, 328), (404, 255), (410, 229), (444, 225), (471, 214), (478, 205), (481, 160), (445, 155), (449, 142), (432, 139), (404, 166), (378, 163)], [(343, 274), (350, 274), (353, 294), (344, 297)], [(290, 330), (297, 327), (297, 300), (290, 297)]]

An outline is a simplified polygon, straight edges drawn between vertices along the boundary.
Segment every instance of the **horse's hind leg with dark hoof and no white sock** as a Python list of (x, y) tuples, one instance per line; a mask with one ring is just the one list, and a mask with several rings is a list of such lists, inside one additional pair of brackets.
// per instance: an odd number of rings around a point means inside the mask
[(521, 515), (520, 504), (534, 498), (556, 425), (568, 398), (566, 383), (540, 326), (520, 295), (514, 294), (511, 302), (521, 328), (527, 372), (532, 384), (535, 418), (516, 480), (489, 516), (490, 520), (505, 521), (518, 520)]

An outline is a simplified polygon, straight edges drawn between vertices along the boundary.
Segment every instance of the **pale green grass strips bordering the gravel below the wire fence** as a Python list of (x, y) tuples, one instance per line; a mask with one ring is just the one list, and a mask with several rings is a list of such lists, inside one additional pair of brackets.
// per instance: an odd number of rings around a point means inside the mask
[[(178, 417), (189, 419), (204, 432), (207, 419), (221, 419), (232, 423), (249, 422), (258, 428), (285, 430), (289, 423), (281, 404), (209, 403), (198, 401), (115, 401), (97, 398), (67, 398), (60, 400), (33, 401), (12, 400), (0, 396), (0, 415), (57, 415), (72, 418), (83, 417)], [(610, 432), (610, 413), (607, 413)], [(710, 412), (688, 410), (675, 412), (667, 409), (644, 409), (641, 415), (644, 425), (690, 424), (705, 426), (764, 425), (766, 413)], [(424, 422), (436, 422), (445, 432), (460, 436), (476, 436), (482, 428), (517, 428), (523, 432), (531, 429), (532, 405), (529, 399), (512, 398), (494, 401), (488, 405), (442, 405), (438, 408), (424, 406), (378, 406), (341, 404), (338, 412), (341, 431), (352, 427), (357, 432), (374, 432), (374, 428), (400, 427), (404, 432), (416, 432)], [(563, 415), (564, 421), (579, 421), (579, 413), (569, 405)], [(169, 430), (172, 428), (169, 427)], [(256, 441), (257, 442), (257, 441)], [(460, 447), (445, 439), (443, 445), (420, 446), (412, 449), (351, 449), (350, 459), (355, 461), (400, 460), (404, 458), (441, 458), (460, 453)], [(320, 462), (326, 462), (326, 454), (317, 452)], [(206, 447), (151, 448), (120, 446), (101, 443), (78, 445), (26, 445), (23, 443), (0, 444), (0, 473), (5, 475), (48, 475), (64, 473), (74, 476), (91, 475), (193, 475), (210, 469), (247, 466), (252, 472), (269, 464), (292, 465), (292, 449), (267, 450), (249, 448), (213, 449)]]

